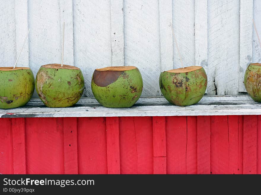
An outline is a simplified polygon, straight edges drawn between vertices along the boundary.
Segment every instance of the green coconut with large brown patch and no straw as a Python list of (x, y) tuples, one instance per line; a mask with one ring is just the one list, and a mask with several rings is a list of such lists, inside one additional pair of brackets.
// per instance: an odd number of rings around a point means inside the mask
[(111, 66), (94, 71), (91, 87), (104, 107), (131, 107), (141, 96), (143, 81), (135, 66)]

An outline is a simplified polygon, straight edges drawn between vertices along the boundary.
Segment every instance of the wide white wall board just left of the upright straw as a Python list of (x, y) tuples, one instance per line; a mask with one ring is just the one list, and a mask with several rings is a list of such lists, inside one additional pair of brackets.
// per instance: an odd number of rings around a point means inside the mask
[(28, 25), (29, 65), (36, 76), (44, 64), (61, 64), (59, 1), (28, 1)]

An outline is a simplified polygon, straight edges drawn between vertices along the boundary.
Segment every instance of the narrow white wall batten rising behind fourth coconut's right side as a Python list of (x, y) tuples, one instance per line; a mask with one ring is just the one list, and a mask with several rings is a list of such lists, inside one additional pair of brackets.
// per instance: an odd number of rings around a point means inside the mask
[(208, 0), (195, 0), (195, 64), (208, 75)]

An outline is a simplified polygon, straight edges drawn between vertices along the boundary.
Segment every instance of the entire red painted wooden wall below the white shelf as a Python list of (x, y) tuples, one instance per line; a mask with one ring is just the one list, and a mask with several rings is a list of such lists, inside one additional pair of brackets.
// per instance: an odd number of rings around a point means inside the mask
[(0, 118), (2, 174), (261, 174), (261, 115)]

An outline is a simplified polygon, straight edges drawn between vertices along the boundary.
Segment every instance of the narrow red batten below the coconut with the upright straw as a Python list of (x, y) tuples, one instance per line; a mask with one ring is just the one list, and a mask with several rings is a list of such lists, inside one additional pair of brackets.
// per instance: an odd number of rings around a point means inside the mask
[(77, 118), (63, 118), (64, 173), (78, 174)]

